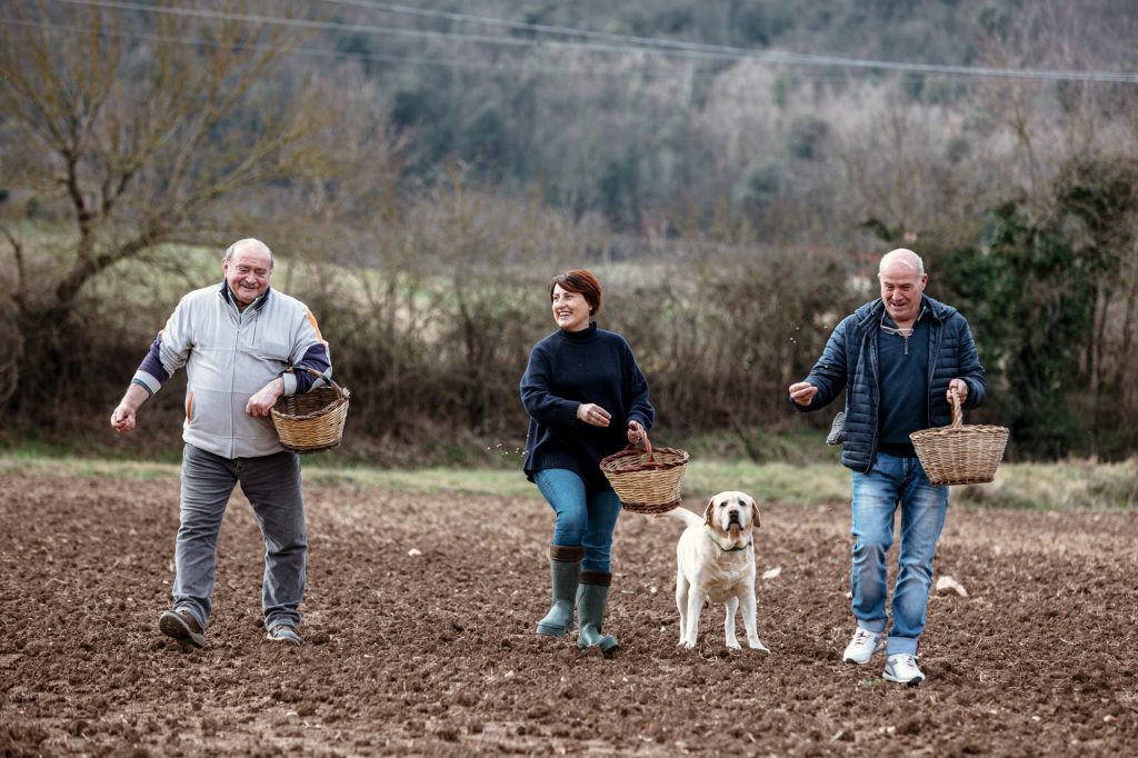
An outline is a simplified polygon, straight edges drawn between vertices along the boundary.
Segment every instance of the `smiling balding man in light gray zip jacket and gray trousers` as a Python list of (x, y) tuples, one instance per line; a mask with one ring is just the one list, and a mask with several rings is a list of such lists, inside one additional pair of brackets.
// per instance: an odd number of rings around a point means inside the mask
[(297, 609), (307, 559), (300, 462), (280, 446), (269, 414), (280, 397), (327, 384), (332, 373), (328, 343), (304, 303), (269, 287), (273, 257), (264, 242), (234, 242), (222, 271), (220, 287), (192, 291), (178, 304), (110, 425), (119, 432), (133, 429), (139, 407), (185, 366), (174, 603), (158, 619), (162, 633), (184, 646), (205, 645), (217, 535), (240, 483), (265, 543), (267, 638), (299, 645)]

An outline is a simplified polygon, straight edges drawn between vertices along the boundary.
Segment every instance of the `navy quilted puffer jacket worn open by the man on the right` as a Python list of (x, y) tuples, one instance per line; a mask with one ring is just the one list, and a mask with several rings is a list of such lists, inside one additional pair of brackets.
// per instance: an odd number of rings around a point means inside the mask
[[(946, 397), (948, 382), (953, 379), (967, 382), (966, 409), (984, 402), (988, 384), (967, 320), (953, 306), (927, 295), (923, 297), (922, 307), (927, 308), (932, 316), (929, 419), (933, 427), (945, 427), (953, 421), (953, 410)], [(791, 401), (791, 405), (799, 411), (816, 411), (833, 402), (846, 388), (842, 464), (855, 471), (868, 471), (877, 452), (877, 404), (881, 399), (877, 335), (884, 312), (885, 304), (877, 298), (846, 316), (830, 336), (826, 349), (806, 378), (818, 388), (818, 393), (806, 406)]]

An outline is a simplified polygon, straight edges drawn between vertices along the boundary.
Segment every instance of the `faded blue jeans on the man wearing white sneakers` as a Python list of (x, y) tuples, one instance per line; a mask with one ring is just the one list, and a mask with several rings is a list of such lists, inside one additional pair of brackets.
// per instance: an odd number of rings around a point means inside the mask
[(948, 487), (929, 481), (921, 461), (877, 453), (868, 473), (853, 472), (853, 617), (869, 632), (885, 631), (885, 553), (893, 513), (901, 506), (901, 546), (893, 587), (888, 654), (917, 652), (932, 585), (932, 560), (948, 511)]

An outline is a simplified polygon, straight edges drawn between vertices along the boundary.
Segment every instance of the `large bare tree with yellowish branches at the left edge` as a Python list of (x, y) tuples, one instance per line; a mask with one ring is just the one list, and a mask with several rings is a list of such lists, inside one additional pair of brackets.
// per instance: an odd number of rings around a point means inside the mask
[(0, 228), (13, 279), (2, 297), (23, 360), (52, 369), (39, 382), (66, 368), (67, 328), (94, 277), (152, 265), (167, 242), (224, 240), (257, 190), (327, 175), (313, 134), (330, 114), (315, 88), (270, 76), (289, 52), (280, 25), (33, 3), (8, 11), (7, 189), (56, 222), (47, 238), (18, 219)]

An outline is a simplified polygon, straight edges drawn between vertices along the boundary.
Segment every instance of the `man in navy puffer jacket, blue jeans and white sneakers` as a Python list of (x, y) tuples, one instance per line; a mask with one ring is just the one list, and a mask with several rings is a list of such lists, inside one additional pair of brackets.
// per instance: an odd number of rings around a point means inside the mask
[[(932, 561), (948, 510), (948, 487), (921, 468), (909, 434), (951, 422), (950, 393), (963, 407), (983, 402), (987, 384), (968, 322), (924, 295), (921, 257), (897, 249), (881, 258), (881, 298), (846, 316), (805, 381), (790, 386), (799, 411), (830, 404), (846, 389), (842, 464), (853, 471), (853, 566), (857, 629), (842, 659), (867, 664), (885, 649), (884, 678), (915, 685), (917, 638), (924, 631)], [(885, 636), (885, 553), (901, 506), (901, 544), (893, 624)]]

